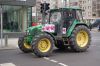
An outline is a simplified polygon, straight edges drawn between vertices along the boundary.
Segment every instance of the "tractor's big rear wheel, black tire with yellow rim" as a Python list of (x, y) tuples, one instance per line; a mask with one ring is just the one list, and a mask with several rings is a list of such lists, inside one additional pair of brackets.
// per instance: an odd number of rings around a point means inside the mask
[(77, 26), (70, 37), (71, 49), (77, 52), (86, 51), (91, 42), (91, 35), (86, 26)]

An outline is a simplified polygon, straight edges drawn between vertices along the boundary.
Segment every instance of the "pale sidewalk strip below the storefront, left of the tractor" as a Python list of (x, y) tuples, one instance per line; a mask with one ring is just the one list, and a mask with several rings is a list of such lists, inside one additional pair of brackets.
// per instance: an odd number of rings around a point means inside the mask
[(16, 49), (18, 48), (18, 38), (8, 38), (8, 45), (5, 46), (5, 40), (3, 39), (3, 47), (1, 47), (1, 39), (0, 39), (0, 50), (1, 49)]

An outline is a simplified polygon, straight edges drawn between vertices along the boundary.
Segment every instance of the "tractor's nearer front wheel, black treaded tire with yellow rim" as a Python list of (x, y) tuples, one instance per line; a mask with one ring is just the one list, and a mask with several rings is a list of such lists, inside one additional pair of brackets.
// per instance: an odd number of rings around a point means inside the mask
[(50, 56), (53, 51), (54, 40), (46, 33), (36, 35), (32, 41), (32, 49), (38, 57)]

